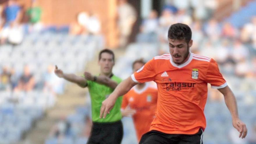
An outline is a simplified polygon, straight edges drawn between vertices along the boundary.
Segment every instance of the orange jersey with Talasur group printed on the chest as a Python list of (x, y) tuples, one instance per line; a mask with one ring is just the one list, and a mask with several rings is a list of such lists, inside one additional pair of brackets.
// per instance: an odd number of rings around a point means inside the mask
[(167, 134), (195, 134), (200, 128), (204, 130), (207, 83), (212, 88), (227, 86), (216, 61), (193, 53), (182, 65), (176, 65), (170, 54), (156, 56), (131, 78), (137, 83), (157, 83), (157, 111), (150, 130)]

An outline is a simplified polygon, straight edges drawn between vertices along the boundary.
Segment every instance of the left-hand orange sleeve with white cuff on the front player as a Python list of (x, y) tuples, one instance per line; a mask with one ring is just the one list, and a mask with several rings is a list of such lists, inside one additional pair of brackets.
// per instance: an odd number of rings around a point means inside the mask
[(131, 75), (131, 79), (136, 83), (153, 81), (155, 76), (154, 59), (148, 61), (141, 69)]

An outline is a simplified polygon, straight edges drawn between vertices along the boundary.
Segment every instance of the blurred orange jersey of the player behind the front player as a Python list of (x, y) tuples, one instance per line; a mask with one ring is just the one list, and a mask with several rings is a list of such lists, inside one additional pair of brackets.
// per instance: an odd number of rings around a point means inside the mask
[(157, 89), (151, 88), (149, 85), (146, 83), (141, 90), (134, 86), (123, 96), (121, 108), (125, 109), (129, 105), (131, 109), (136, 110), (132, 118), (138, 140), (149, 131), (157, 108)]

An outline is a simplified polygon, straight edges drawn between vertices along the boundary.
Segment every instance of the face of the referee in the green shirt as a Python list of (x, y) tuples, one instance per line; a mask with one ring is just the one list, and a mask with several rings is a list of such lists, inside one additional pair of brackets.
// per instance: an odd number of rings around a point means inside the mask
[(109, 74), (112, 72), (114, 66), (113, 55), (109, 53), (102, 53), (101, 58), (98, 61), (100, 66), (100, 71), (104, 74)]

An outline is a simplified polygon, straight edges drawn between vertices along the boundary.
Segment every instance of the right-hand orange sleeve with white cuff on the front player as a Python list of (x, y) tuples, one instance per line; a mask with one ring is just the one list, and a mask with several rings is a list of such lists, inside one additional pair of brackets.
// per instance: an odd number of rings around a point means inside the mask
[(223, 78), (218, 64), (214, 59), (211, 59), (210, 64), (206, 73), (206, 82), (211, 84), (211, 88), (225, 88), (227, 86), (227, 82)]

